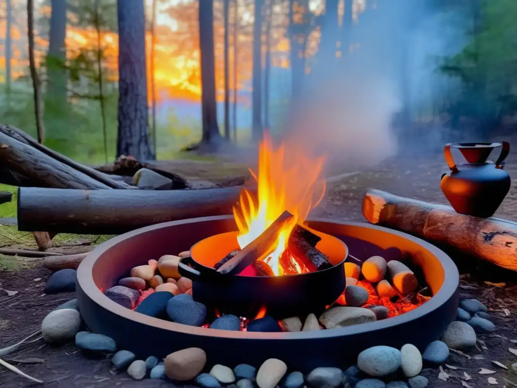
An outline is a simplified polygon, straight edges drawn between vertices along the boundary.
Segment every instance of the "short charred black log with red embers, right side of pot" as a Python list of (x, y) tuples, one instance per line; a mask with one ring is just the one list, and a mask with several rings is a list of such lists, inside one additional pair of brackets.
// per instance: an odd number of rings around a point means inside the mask
[(315, 246), (320, 240), (319, 236), (301, 226), (294, 228), (289, 237), (288, 249), (298, 261), (307, 267), (309, 272), (322, 271), (332, 267), (328, 258)]

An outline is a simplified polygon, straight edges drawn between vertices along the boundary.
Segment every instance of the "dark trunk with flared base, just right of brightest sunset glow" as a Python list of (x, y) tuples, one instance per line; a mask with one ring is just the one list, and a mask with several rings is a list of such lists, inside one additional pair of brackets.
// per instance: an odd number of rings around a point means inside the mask
[(221, 139), (217, 124), (216, 68), (214, 59), (214, 0), (199, 2), (199, 39), (201, 51), (201, 142), (217, 145)]

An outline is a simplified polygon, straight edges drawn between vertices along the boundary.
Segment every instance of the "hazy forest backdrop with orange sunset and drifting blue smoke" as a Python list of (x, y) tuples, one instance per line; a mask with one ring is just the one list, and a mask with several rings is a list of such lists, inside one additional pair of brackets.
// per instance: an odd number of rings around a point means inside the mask
[(371, 164), (516, 123), (514, 0), (0, 2), (0, 122), (90, 164), (265, 130)]

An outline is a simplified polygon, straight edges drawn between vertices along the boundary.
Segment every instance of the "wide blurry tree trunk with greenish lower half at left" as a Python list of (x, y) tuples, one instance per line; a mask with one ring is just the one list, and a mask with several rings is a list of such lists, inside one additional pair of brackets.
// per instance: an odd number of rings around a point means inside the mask
[[(45, 103), (64, 109), (66, 103), (66, 0), (52, 0), (49, 51), (47, 53), (47, 91)], [(52, 109), (46, 109), (52, 112)]]

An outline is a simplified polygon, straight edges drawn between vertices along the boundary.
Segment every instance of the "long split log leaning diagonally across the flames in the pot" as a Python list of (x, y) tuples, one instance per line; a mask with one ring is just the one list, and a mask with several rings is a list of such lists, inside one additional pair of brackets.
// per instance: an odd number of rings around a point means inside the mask
[(237, 275), (248, 265), (263, 258), (272, 250), (282, 227), (292, 219), (293, 215), (291, 213), (283, 212), (260, 236), (242, 248), (233, 258), (221, 265), (217, 271), (224, 275)]

